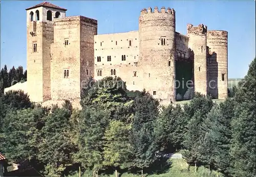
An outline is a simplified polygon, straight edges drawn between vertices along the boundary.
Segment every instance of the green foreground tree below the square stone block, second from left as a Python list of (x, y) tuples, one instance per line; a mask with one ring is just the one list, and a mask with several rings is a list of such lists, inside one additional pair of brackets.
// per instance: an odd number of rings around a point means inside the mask
[(38, 159), (46, 164), (46, 173), (61, 175), (72, 163), (72, 143), (70, 113), (65, 108), (56, 108), (45, 119), (40, 131)]

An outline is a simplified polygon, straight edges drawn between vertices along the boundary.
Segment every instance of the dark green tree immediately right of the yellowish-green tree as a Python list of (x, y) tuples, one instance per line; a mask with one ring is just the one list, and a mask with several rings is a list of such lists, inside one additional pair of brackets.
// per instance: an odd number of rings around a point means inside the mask
[(134, 121), (130, 134), (130, 143), (134, 166), (141, 169), (149, 167), (156, 160), (156, 142), (154, 121), (158, 117), (159, 102), (145, 90), (134, 100)]

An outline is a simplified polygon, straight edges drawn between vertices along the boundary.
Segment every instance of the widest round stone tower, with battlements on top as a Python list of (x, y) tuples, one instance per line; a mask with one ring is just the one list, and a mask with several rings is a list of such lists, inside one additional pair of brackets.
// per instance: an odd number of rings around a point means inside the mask
[(139, 67), (143, 87), (162, 103), (175, 101), (175, 11), (142, 9)]

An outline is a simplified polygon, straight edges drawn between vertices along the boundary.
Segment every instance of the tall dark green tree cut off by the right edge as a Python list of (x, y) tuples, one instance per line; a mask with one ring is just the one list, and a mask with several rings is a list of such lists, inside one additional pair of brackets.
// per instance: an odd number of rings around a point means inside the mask
[(239, 82), (234, 96), (234, 118), (231, 123), (231, 156), (234, 176), (255, 175), (255, 91), (256, 59), (249, 65), (244, 79)]

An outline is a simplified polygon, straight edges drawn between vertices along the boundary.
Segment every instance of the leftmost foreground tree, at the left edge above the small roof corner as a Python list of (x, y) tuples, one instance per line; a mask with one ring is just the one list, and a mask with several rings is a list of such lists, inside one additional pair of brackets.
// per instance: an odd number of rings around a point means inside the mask
[(48, 112), (48, 109), (38, 107), (7, 113), (3, 119), (0, 149), (8, 160), (17, 162), (36, 158), (37, 135)]

